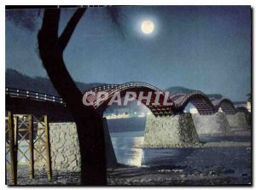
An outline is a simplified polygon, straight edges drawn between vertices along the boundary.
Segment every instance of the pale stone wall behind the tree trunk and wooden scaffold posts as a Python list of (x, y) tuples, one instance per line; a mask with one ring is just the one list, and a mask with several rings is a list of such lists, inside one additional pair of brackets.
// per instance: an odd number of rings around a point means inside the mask
[[(117, 164), (106, 119), (103, 119), (108, 167)], [(52, 170), (80, 171), (79, 137), (74, 123), (50, 123), (49, 141)], [(46, 170), (43, 158), (35, 162), (35, 168)]]

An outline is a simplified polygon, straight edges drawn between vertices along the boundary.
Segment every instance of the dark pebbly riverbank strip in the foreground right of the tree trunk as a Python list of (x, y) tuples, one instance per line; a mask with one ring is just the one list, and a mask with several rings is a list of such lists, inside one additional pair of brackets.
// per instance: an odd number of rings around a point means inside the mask
[(120, 167), (108, 171), (108, 185), (249, 185), (250, 172), (237, 173), (227, 167), (155, 166), (150, 168)]

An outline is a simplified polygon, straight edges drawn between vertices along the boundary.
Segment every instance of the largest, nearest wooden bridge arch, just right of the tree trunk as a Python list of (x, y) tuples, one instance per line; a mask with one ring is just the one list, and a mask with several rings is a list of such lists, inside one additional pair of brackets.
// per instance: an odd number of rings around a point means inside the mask
[[(154, 87), (148, 83), (139, 83), (139, 82), (131, 82), (131, 83), (124, 83), (124, 84), (105, 84), (93, 89), (88, 90), (93, 92), (107, 92), (108, 98), (104, 101), (99, 101), (99, 99), (95, 99), (92, 101), (92, 106), (98, 110), (99, 112), (104, 112), (108, 107), (108, 102), (113, 98), (115, 93), (120, 93), (120, 97), (125, 97), (126, 92), (134, 92), (137, 94), (137, 98), (140, 92), (143, 91), (143, 96), (147, 96), (149, 92), (152, 93), (151, 99), (148, 105), (146, 105), (146, 100), (142, 101), (148, 109), (154, 114), (154, 116), (167, 116), (172, 115), (174, 103), (170, 97), (167, 98), (167, 102), (170, 103), (169, 106), (163, 105), (165, 99), (165, 93)], [(155, 92), (159, 93), (159, 103), (160, 105), (155, 106), (154, 102), (157, 99)], [(85, 92), (86, 93), (86, 92)], [(136, 99), (137, 99), (136, 98)], [(137, 99), (138, 101), (138, 99)]]

